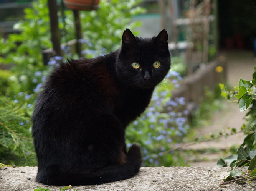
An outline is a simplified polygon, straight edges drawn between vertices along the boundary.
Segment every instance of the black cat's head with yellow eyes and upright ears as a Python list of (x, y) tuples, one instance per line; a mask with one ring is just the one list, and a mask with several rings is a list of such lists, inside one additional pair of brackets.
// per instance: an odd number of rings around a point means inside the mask
[(167, 31), (156, 37), (135, 37), (129, 29), (122, 36), (116, 62), (119, 78), (127, 87), (154, 88), (170, 70), (171, 58)]

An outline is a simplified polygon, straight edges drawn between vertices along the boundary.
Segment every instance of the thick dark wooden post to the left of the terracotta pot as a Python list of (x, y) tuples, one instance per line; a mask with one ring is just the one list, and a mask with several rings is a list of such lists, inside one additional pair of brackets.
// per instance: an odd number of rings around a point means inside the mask
[(50, 16), (50, 28), (51, 28), (51, 42), (53, 43), (53, 50), (55, 51), (56, 55), (61, 56), (61, 47), (60, 47), (60, 40), (61, 35), (59, 32), (59, 25), (58, 25), (58, 7), (56, 4), (56, 0), (48, 0), (48, 8), (49, 8), (49, 16)]

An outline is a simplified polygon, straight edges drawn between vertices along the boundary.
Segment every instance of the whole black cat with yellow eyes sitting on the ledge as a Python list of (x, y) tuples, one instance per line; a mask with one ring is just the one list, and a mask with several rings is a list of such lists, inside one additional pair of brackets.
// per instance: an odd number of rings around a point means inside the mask
[(54, 69), (32, 116), (36, 181), (91, 185), (139, 172), (140, 147), (132, 144), (126, 151), (125, 129), (170, 70), (167, 40), (165, 30), (139, 38), (126, 29), (116, 52)]

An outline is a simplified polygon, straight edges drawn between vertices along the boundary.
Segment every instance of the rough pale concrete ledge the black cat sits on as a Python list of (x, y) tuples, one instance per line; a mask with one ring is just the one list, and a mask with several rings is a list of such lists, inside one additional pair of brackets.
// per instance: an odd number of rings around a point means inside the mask
[[(102, 185), (75, 186), (78, 191), (251, 191), (248, 183), (220, 185), (230, 167), (142, 167), (133, 178)], [(45, 187), (35, 181), (37, 167), (7, 167), (0, 170), (1, 191), (33, 191), (37, 186), (59, 191), (58, 186)], [(253, 182), (256, 184), (256, 181)]]

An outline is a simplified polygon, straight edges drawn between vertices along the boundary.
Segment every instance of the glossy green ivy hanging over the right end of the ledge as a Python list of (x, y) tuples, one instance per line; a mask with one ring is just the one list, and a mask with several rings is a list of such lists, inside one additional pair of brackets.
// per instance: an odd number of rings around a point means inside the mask
[[(220, 84), (222, 90), (221, 95), (228, 100), (238, 99), (239, 108), (241, 112), (248, 111), (244, 117), (246, 123), (242, 125), (241, 129), (247, 134), (244, 138), (244, 142), (236, 151), (235, 155), (232, 155), (226, 159), (220, 159), (218, 165), (231, 167), (230, 176), (226, 179), (233, 178), (234, 176), (243, 175), (251, 185), (250, 180), (256, 177), (256, 67), (254, 66), (253, 80), (246, 81), (240, 79), (239, 86), (229, 91), (224, 84)], [(247, 173), (240, 170), (233, 170), (235, 167), (248, 166)], [(226, 180), (225, 179), (225, 180)], [(252, 185), (251, 185), (252, 186)]]

